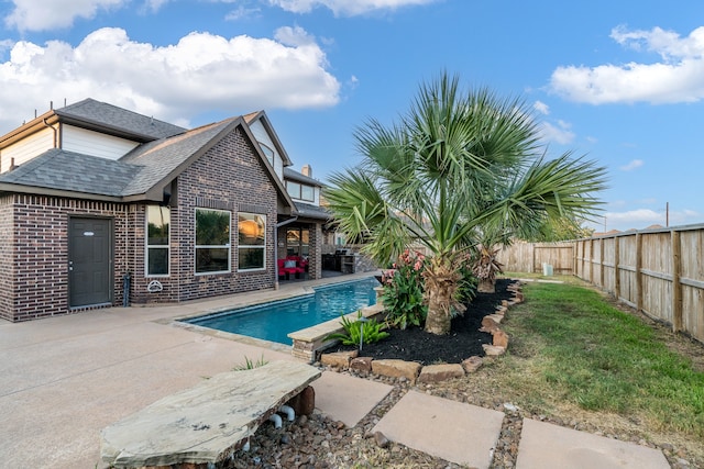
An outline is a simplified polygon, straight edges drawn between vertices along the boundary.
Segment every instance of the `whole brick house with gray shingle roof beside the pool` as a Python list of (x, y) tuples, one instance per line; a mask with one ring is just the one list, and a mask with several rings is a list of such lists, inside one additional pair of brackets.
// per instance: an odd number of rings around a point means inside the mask
[(292, 252), (320, 277), (321, 185), (288, 166), (264, 112), (187, 130), (87, 99), (37, 116), (0, 137), (0, 317), (275, 288)]

